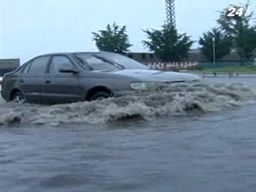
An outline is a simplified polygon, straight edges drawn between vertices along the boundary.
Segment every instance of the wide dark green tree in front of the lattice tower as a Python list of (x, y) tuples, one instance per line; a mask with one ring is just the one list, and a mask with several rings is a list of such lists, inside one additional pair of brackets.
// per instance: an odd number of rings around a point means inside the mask
[(178, 34), (170, 25), (162, 26), (161, 30), (145, 30), (148, 41), (143, 45), (154, 51), (162, 61), (183, 61), (188, 57), (188, 52), (193, 44), (186, 34)]

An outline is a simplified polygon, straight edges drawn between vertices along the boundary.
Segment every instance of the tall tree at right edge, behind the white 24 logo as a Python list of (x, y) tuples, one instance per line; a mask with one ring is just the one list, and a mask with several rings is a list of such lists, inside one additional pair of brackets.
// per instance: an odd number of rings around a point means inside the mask
[[(248, 9), (249, 3), (245, 5)], [(236, 7), (236, 6), (234, 6)], [(256, 26), (251, 26), (253, 12), (247, 15), (228, 18), (226, 10), (220, 12), (218, 24), (226, 35), (233, 39), (234, 47), (241, 58), (241, 64), (253, 56), (253, 49), (256, 48)]]

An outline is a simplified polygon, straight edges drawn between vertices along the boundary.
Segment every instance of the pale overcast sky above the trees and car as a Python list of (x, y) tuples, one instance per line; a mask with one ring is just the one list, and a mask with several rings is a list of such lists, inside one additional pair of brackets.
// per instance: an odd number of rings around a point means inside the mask
[[(177, 0), (177, 30), (198, 40), (216, 26), (218, 10), (245, 2)], [(91, 32), (113, 21), (128, 27), (131, 51), (147, 51), (142, 30), (159, 28), (165, 19), (165, 0), (0, 0), (0, 58), (23, 62), (50, 52), (96, 50)]]

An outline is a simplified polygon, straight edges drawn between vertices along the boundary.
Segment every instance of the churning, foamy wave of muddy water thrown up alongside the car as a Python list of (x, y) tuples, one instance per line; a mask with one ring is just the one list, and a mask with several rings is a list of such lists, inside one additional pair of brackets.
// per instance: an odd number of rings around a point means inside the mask
[(97, 102), (54, 106), (0, 103), (0, 125), (102, 124), (122, 119), (155, 119), (187, 113), (236, 108), (256, 101), (247, 84), (170, 84), (139, 96), (122, 96)]

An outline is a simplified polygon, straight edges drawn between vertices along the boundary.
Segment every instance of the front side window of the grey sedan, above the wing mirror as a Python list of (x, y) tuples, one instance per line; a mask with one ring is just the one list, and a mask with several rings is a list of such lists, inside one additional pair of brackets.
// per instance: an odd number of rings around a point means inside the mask
[(49, 66), (49, 73), (60, 73), (61, 68), (73, 69), (73, 64), (67, 56), (54, 56)]

